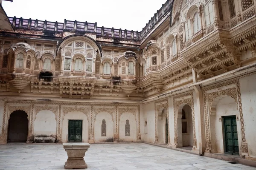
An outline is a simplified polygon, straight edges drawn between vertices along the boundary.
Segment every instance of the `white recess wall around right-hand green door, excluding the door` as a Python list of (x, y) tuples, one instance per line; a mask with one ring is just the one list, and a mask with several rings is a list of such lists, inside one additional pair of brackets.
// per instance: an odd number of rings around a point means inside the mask
[[(224, 96), (220, 99), (216, 105), (216, 113), (212, 113), (210, 116), (210, 127), (211, 127), (211, 141), (212, 150), (211, 152), (224, 153), (224, 139), (223, 139), (223, 125), (222, 121), (219, 121), (221, 116), (233, 116), (239, 115), (237, 111), (237, 104), (235, 100), (230, 96)], [(239, 148), (241, 144), (241, 127), (240, 122), (236, 122), (237, 134), (239, 139)]]

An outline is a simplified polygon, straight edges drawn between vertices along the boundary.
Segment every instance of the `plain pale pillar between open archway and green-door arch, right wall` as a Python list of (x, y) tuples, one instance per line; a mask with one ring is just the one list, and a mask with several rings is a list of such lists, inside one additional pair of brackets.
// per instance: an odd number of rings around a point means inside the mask
[(198, 113), (195, 113), (195, 115), (197, 115), (197, 119), (198, 119), (197, 143), (198, 143), (199, 155), (202, 155), (205, 151), (203, 91), (201, 90), (201, 87), (199, 85), (196, 85), (194, 87), (194, 90), (195, 90), (194, 102), (196, 101), (195, 110), (198, 111)]

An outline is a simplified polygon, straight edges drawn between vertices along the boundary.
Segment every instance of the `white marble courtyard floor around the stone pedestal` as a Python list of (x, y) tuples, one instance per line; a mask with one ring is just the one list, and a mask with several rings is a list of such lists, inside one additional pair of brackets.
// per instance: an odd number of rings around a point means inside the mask
[[(256, 170), (144, 143), (91, 144), (84, 159), (87, 170)], [(66, 160), (61, 144), (0, 145), (0, 170), (63, 170)]]

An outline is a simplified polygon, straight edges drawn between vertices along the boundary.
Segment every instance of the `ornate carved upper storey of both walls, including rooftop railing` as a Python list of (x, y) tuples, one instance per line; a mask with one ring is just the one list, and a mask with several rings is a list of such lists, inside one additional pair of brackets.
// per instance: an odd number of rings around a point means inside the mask
[[(140, 32), (9, 17), (15, 31), (0, 32), (1, 91), (140, 100), (227, 73), (255, 62), (255, 6), (167, 0)], [(51, 81), (38, 77), (45, 72)]]

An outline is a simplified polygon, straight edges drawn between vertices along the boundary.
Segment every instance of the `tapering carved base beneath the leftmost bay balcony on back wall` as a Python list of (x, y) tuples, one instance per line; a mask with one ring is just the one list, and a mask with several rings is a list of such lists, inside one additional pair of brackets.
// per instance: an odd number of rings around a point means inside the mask
[(20, 93), (28, 84), (30, 84), (32, 76), (25, 74), (15, 74), (13, 73), (8, 78), (8, 81), (18, 90)]

